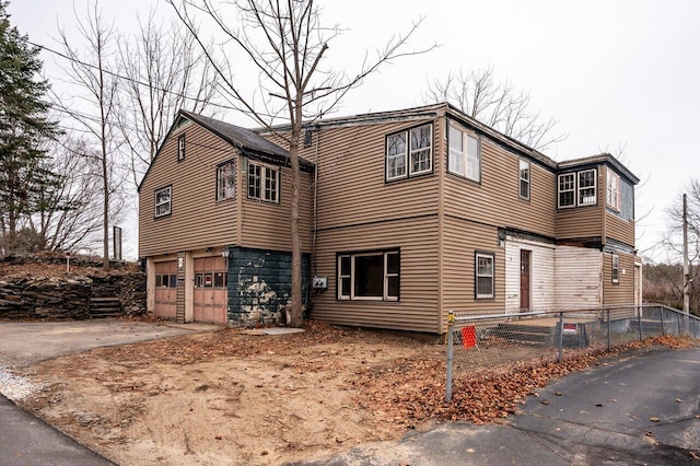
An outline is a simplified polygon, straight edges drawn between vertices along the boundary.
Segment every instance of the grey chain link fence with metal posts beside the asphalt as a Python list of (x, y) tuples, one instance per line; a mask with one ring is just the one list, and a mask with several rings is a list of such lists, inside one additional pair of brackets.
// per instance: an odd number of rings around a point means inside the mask
[(453, 375), (521, 361), (561, 362), (576, 352), (609, 350), (658, 335), (700, 339), (700, 318), (661, 304), (450, 312), (445, 399), (452, 400)]

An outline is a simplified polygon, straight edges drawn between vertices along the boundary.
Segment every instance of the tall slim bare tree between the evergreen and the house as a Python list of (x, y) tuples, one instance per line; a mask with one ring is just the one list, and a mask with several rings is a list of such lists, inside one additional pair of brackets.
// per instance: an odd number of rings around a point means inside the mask
[[(116, 214), (113, 197), (118, 199), (122, 171), (119, 165), (120, 131), (117, 125), (118, 80), (114, 68), (116, 35), (105, 24), (97, 3), (88, 7), (81, 19), (78, 12), (77, 33), (80, 46), (71, 44), (65, 31), (59, 31), (63, 55), (68, 65), (62, 67), (68, 82), (81, 88), (78, 102), (67, 102), (56, 96), (55, 106), (67, 114), (77, 125), (77, 130), (91, 138), (97, 149), (98, 179), (103, 201), (103, 267), (109, 268), (109, 223)], [(110, 68), (112, 67), (112, 68)]]

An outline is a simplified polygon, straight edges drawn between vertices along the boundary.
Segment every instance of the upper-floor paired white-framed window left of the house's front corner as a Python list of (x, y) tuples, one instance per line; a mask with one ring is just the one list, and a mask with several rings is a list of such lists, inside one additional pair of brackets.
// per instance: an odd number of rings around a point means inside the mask
[(432, 170), (432, 125), (422, 125), (386, 137), (386, 180), (422, 175)]

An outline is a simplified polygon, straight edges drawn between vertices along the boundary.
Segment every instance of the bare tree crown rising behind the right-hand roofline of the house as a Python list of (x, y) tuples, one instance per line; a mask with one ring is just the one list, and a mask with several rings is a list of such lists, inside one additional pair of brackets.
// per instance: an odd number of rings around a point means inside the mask
[(423, 98), (427, 103), (450, 102), (471, 118), (540, 151), (565, 139), (565, 135), (555, 135), (557, 119), (541, 120), (539, 112), (533, 112), (529, 92), (498, 80), (493, 68), (451, 72), (429, 83)]

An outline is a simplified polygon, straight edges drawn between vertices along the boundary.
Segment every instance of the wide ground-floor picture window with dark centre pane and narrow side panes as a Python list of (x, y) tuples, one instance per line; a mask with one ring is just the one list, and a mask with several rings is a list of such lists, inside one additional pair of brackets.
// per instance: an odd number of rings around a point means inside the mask
[(338, 255), (338, 299), (398, 301), (399, 252)]

